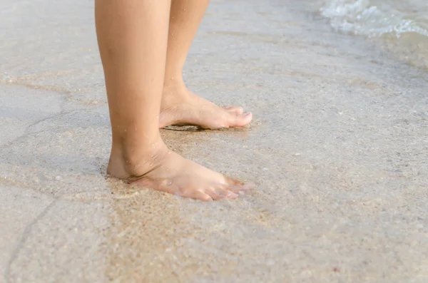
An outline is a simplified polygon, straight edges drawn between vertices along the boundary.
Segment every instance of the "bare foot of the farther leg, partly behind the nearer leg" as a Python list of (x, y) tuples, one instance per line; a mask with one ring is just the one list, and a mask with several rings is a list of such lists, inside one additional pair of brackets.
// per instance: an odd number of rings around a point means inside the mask
[(163, 89), (159, 128), (168, 125), (198, 125), (209, 129), (242, 127), (252, 119), (253, 115), (243, 113), (243, 108), (216, 106), (188, 91), (184, 83)]

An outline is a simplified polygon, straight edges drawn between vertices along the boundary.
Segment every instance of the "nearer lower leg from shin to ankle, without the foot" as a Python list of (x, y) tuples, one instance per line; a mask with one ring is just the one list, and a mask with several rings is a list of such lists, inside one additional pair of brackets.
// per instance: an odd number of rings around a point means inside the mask
[(123, 155), (128, 170), (133, 170), (130, 166), (140, 155), (151, 154), (151, 145), (163, 144), (158, 111), (170, 1), (154, 3), (96, 0), (96, 32), (106, 79), (112, 153)]

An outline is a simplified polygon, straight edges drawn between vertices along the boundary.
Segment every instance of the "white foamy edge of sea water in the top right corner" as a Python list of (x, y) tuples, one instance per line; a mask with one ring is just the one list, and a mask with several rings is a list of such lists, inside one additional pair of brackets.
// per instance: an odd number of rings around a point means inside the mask
[[(427, 22), (417, 18), (414, 14), (416, 10), (406, 10), (407, 13), (394, 10), (397, 3), (387, 4), (392, 6), (384, 11), (382, 7), (379, 8), (379, 3), (372, 1), (354, 5), (332, 1), (327, 4), (327, 1), (320, 0), (317, 4), (302, 3), (301, 8), (317, 18), (317, 21), (331, 26), (332, 31), (349, 36), (362, 36), (382, 51), (391, 54), (392, 58), (424, 72), (428, 71)], [(419, 6), (419, 9), (422, 9), (419, 11), (421, 16), (428, 6)]]

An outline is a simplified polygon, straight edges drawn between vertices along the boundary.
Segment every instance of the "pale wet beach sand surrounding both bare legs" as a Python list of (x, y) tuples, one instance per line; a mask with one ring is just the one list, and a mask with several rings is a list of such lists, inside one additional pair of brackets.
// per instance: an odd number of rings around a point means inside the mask
[(258, 190), (183, 200), (106, 179), (81, 2), (0, 0), (1, 283), (428, 281), (426, 73), (298, 1), (213, 1), (186, 81), (255, 121), (162, 135)]

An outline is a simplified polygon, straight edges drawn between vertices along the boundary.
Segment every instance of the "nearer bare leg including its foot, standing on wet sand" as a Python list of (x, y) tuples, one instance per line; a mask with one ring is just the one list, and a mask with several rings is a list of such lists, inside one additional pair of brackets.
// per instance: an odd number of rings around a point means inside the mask
[(108, 173), (185, 197), (237, 197), (239, 183), (171, 152), (159, 135), (169, 9), (169, 0), (96, 0), (113, 134)]

